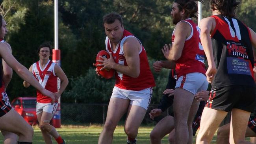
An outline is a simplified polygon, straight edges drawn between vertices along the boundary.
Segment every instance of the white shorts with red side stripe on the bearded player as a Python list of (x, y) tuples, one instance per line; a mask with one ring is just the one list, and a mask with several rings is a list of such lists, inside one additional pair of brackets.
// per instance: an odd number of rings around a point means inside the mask
[(207, 90), (208, 84), (204, 74), (194, 72), (186, 74), (186, 76), (180, 76), (176, 82), (175, 88), (186, 89), (187, 91), (196, 94), (201, 90)]

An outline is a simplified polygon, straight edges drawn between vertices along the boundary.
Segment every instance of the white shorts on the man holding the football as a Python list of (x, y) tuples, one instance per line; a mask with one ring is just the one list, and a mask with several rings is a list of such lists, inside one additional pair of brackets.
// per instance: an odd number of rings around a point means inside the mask
[(139, 91), (120, 89), (114, 87), (111, 98), (122, 98), (130, 100), (131, 105), (137, 105), (148, 109), (151, 97), (152, 97), (153, 88), (147, 88)]

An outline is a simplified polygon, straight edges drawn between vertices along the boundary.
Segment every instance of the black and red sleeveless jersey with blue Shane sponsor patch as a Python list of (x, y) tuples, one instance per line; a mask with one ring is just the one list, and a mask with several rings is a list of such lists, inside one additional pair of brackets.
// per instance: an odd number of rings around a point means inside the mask
[(216, 22), (211, 41), (217, 68), (212, 89), (230, 85), (255, 86), (250, 30), (236, 18), (211, 17)]

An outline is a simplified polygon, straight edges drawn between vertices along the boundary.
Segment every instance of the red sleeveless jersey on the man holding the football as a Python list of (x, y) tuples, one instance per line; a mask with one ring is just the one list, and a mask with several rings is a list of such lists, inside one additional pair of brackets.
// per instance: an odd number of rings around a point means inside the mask
[[(134, 37), (134, 35), (132, 35), (132, 33), (130, 33), (129, 31), (124, 30), (123, 36), (119, 44), (115, 48), (115, 51), (111, 50), (110, 41), (108, 37), (106, 37), (106, 41), (105, 41), (106, 50), (112, 53), (115, 63), (127, 66), (126, 59), (124, 57), (123, 44), (124, 44), (124, 41), (129, 37)], [(137, 40), (139, 41), (139, 39)], [(154, 77), (149, 68), (147, 54), (142, 44), (141, 44), (141, 50), (139, 52), (139, 68), (140, 68), (140, 73), (138, 78), (132, 78), (121, 72), (116, 72), (115, 86), (119, 87), (120, 89), (135, 90), (135, 91), (143, 90), (149, 87), (154, 87), (155, 86)]]

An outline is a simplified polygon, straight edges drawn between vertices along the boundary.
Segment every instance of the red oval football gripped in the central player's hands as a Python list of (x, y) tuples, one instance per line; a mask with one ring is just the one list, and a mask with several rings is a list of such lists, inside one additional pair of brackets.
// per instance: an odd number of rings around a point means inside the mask
[[(100, 56), (109, 59), (110, 55), (107, 51), (105, 50), (101, 50), (100, 52), (98, 52), (97, 56), (96, 56), (96, 65), (101, 64), (100, 62), (98, 62), (97, 60), (103, 60)], [(102, 68), (103, 66), (97, 66), (98, 69), (98, 73), (106, 79), (110, 79), (114, 76), (115, 74), (115, 70), (113, 69), (104, 69), (104, 70), (100, 70), (100, 68)]]

